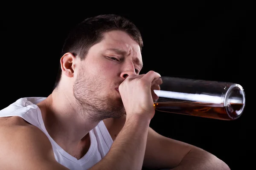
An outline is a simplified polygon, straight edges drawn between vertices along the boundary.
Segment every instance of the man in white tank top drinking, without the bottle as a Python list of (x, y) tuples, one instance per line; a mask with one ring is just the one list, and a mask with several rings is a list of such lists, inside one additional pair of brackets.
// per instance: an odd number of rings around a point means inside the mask
[(149, 127), (153, 84), (140, 31), (123, 17), (87, 18), (67, 37), (55, 89), (0, 111), (4, 170), (229, 170), (198, 147)]

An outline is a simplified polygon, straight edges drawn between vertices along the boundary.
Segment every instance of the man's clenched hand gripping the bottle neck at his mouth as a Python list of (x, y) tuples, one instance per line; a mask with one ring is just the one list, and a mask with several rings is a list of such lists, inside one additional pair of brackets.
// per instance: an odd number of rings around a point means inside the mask
[(119, 86), (119, 93), (125, 107), (126, 116), (143, 116), (152, 119), (155, 113), (154, 100), (157, 99), (153, 88), (159, 86), (152, 82), (160, 74), (149, 71), (147, 74), (129, 75)]

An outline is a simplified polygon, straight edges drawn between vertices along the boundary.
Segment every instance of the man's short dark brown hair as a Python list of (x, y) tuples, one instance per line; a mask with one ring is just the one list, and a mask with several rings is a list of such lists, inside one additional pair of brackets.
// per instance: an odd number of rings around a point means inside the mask
[[(143, 40), (139, 29), (134, 23), (116, 14), (105, 14), (89, 17), (75, 26), (64, 42), (61, 57), (65, 53), (70, 52), (83, 60), (89, 49), (103, 39), (103, 33), (112, 30), (127, 32), (140, 45), (142, 50)], [(61, 67), (59, 66), (54, 88), (58, 86), (60, 79)]]

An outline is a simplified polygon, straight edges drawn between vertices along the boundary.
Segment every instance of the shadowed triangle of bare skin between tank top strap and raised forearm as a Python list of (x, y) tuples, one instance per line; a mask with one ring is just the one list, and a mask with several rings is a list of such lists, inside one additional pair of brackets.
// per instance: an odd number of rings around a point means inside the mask
[(103, 122), (110, 133), (113, 141), (116, 139), (116, 136), (122, 130), (122, 127), (125, 125), (126, 115), (123, 115), (120, 118), (108, 118), (104, 119)]

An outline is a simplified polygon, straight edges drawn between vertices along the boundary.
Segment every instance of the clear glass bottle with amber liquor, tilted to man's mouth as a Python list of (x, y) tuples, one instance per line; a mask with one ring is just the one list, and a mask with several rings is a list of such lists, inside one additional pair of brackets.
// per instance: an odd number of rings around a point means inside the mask
[(238, 119), (244, 111), (244, 89), (236, 83), (160, 77), (152, 85), (157, 111), (221, 120)]

